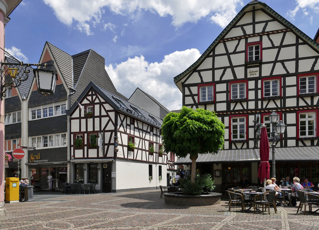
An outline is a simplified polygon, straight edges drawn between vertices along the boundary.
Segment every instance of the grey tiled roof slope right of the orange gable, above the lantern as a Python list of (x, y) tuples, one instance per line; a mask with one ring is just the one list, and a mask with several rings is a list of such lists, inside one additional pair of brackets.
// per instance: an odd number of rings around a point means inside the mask
[(50, 51), (68, 87), (73, 88), (72, 56), (48, 43)]

